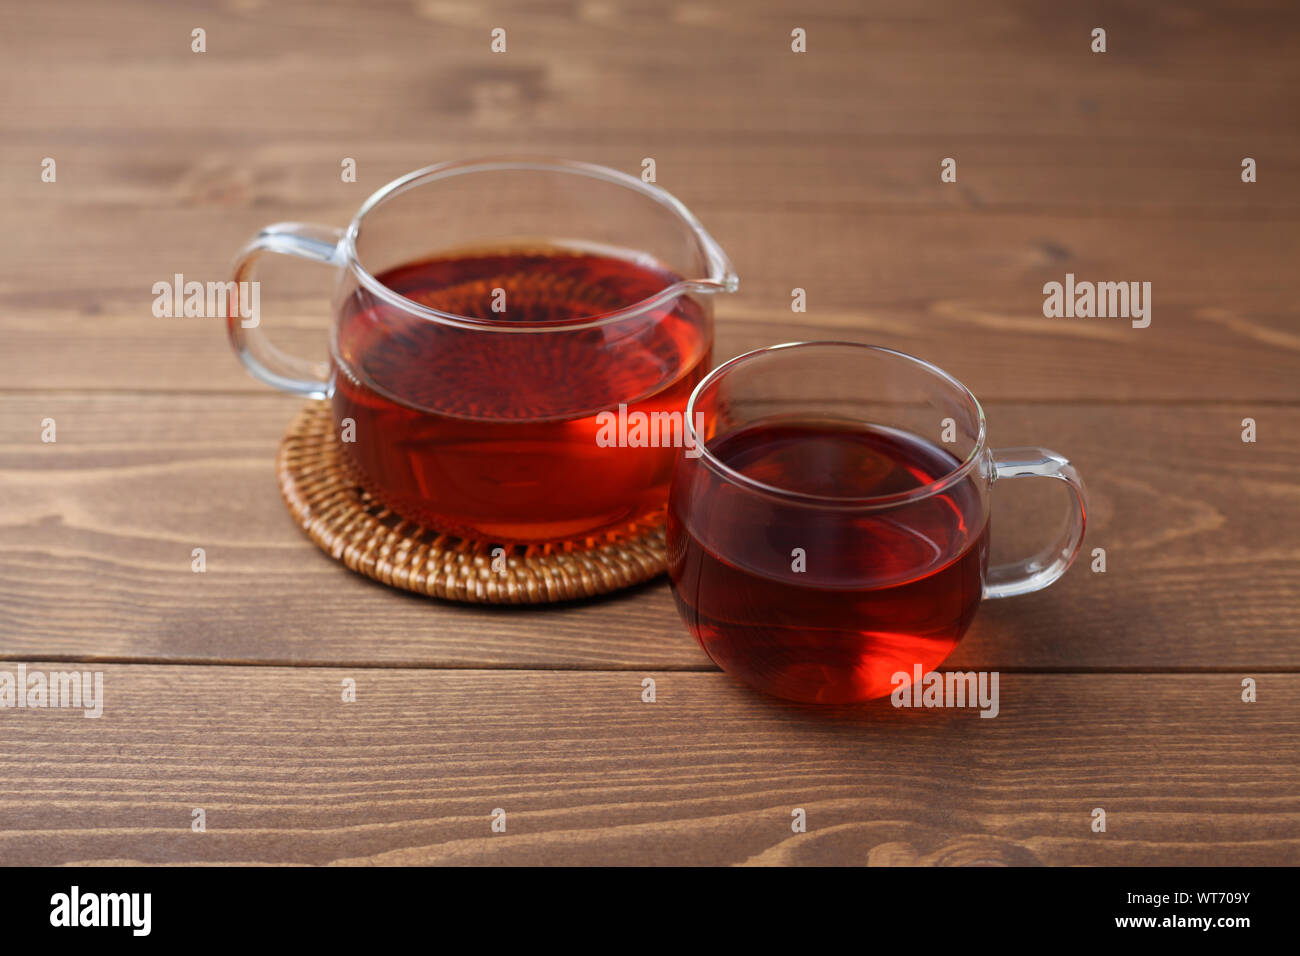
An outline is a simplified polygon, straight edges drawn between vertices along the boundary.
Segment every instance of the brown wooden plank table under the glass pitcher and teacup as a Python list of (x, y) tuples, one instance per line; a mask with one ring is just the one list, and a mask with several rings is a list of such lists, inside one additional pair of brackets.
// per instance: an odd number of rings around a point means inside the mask
[[(1297, 862), (1300, 17), (1102, 10), (5, 8), (0, 669), (100, 670), (105, 705), (0, 710), (0, 862)], [(152, 284), (499, 152), (654, 157), (741, 274), (719, 360), (902, 349), (971, 386), (994, 445), (1074, 459), (1084, 558), (985, 605), (948, 665), (1000, 671), (997, 719), (759, 697), (662, 580), (455, 606), (292, 524), (274, 455), (299, 403), (220, 321), (153, 317)], [(1067, 272), (1149, 281), (1150, 326), (1044, 317)], [(261, 277), (272, 337), (324, 356), (325, 276)], [(1062, 507), (1035, 484), (996, 489), (994, 558)]]

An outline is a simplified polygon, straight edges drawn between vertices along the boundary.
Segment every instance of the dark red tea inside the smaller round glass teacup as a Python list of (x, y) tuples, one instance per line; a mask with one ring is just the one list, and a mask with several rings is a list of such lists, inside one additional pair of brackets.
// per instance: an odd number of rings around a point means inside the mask
[[(831, 421), (742, 427), (707, 442), (672, 486), (668, 564), (682, 618), (724, 670), (768, 693), (848, 702), (937, 666), (966, 632), (988, 558), (980, 485), (896, 507), (796, 503), (901, 494), (959, 462), (896, 429)], [(802, 570), (798, 554), (802, 553)]]

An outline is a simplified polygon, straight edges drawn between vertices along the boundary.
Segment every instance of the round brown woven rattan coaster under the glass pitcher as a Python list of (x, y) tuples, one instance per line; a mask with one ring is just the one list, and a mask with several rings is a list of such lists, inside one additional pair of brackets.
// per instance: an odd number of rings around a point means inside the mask
[[(277, 471), (285, 503), (308, 537), (394, 588), (471, 604), (547, 604), (604, 594), (664, 570), (662, 514), (580, 541), (514, 546), (407, 520), (350, 476), (328, 402), (312, 402), (294, 419)], [(493, 570), (495, 548), (504, 548), (502, 571)]]

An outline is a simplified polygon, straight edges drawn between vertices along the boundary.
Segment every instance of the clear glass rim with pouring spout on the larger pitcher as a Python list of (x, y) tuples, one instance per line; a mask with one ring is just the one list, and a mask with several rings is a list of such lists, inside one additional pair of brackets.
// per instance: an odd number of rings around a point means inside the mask
[[(551, 319), (540, 323), (503, 323), (493, 319), (474, 319), (473, 316), (443, 312), (442, 310), (408, 299), (400, 293), (384, 285), (365, 265), (361, 264), (356, 243), (360, 238), (361, 225), (368, 213), (373, 212), (389, 200), (395, 199), (403, 193), (419, 186), (425, 186), (454, 176), (504, 170), (568, 173), (590, 179), (601, 179), (641, 194), (646, 199), (650, 199), (672, 212), (682, 222), (682, 225), (685, 225), (694, 234), (696, 241), (699, 243), (701, 252), (705, 256), (705, 261), (708, 265), (708, 274), (702, 278), (681, 278), (654, 295), (612, 312), (602, 312), (594, 316), (580, 316), (577, 319)], [(348, 222), (347, 229), (343, 233), (343, 238), (339, 241), (339, 251), (342, 254), (343, 267), (350, 271), (356, 277), (358, 282), (360, 282), (361, 286), (364, 286), (370, 294), (382, 299), (387, 304), (410, 315), (428, 319), (429, 321), (474, 329), (478, 332), (568, 332), (598, 328), (621, 321), (624, 319), (632, 319), (654, 308), (666, 306), (672, 299), (676, 299), (685, 293), (733, 293), (740, 287), (740, 280), (736, 276), (736, 271), (732, 267), (731, 260), (727, 258), (727, 254), (723, 252), (714, 237), (710, 235), (708, 232), (701, 225), (694, 213), (692, 213), (680, 199), (673, 196), (667, 190), (660, 189), (654, 183), (642, 182), (640, 178), (629, 176), (628, 173), (623, 173), (618, 169), (610, 169), (608, 166), (601, 166), (594, 163), (556, 160), (538, 156), (495, 156), (476, 160), (451, 160), (447, 163), (434, 163), (433, 165), (428, 165), (407, 173), (406, 176), (398, 177), (386, 186), (381, 186), (378, 190), (372, 193), (364, 203), (361, 203), (361, 208), (358, 209), (352, 221)]]

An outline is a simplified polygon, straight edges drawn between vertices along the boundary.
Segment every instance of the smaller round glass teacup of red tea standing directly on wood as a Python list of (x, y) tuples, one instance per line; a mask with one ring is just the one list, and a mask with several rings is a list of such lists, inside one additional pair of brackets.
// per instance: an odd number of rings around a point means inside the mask
[[(701, 381), (686, 420), (702, 453), (673, 475), (673, 594), (720, 667), (776, 696), (849, 702), (910, 684), (952, 653), (983, 597), (1045, 588), (1083, 541), (1070, 463), (991, 451), (975, 397), (902, 352), (749, 352)], [(1067, 522), (1039, 554), (989, 567), (991, 486), (1026, 476), (1070, 488)]]

